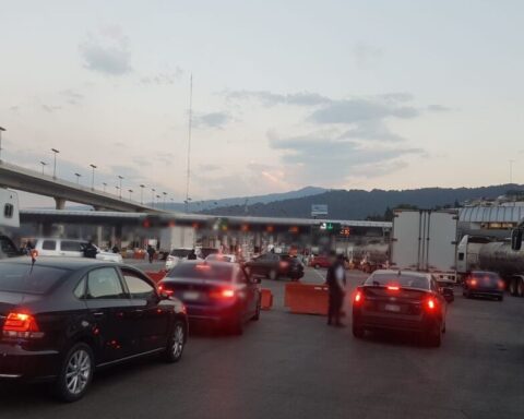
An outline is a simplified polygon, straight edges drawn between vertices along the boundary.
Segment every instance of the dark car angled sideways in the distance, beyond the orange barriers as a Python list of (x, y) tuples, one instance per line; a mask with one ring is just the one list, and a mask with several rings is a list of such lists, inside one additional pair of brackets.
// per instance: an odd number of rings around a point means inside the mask
[(262, 275), (270, 279), (288, 277), (298, 280), (303, 276), (303, 265), (289, 254), (263, 253), (245, 264), (251, 275)]

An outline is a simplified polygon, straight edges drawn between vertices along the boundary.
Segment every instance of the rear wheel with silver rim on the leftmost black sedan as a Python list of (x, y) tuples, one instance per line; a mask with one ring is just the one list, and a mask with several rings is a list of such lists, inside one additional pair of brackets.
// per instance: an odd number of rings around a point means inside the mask
[(62, 402), (76, 402), (87, 392), (95, 367), (93, 350), (87, 344), (74, 345), (66, 355), (55, 393)]

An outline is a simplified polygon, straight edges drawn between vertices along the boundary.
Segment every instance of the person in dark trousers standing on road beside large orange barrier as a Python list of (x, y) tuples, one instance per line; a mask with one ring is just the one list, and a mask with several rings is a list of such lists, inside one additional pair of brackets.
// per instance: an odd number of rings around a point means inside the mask
[(327, 276), (325, 278), (329, 287), (329, 309), (327, 309), (327, 324), (342, 327), (341, 311), (344, 303), (344, 296), (346, 294), (346, 267), (344, 263), (344, 255), (331, 254), (331, 266), (327, 268)]

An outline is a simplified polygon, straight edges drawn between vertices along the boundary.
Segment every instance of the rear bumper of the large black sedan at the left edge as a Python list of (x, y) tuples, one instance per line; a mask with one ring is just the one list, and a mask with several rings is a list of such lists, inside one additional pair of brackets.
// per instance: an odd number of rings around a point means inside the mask
[(31, 351), (20, 345), (0, 344), (0, 380), (52, 379), (59, 367), (58, 351)]

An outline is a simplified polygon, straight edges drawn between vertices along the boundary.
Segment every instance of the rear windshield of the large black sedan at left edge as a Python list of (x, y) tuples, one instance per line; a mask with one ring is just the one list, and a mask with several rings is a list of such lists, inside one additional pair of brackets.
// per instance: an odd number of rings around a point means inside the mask
[(68, 271), (56, 267), (31, 267), (26, 264), (0, 263), (0, 291), (47, 294)]

